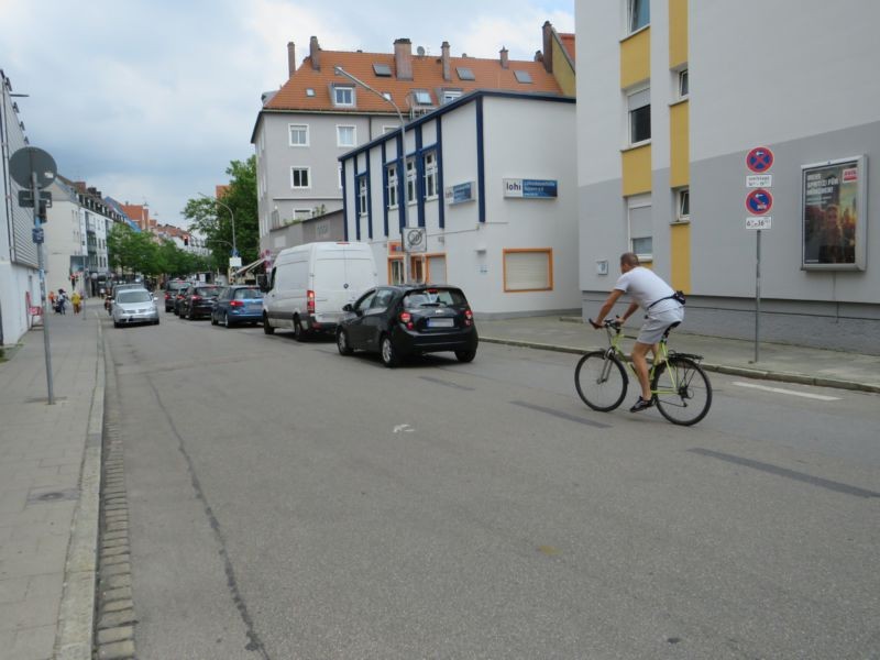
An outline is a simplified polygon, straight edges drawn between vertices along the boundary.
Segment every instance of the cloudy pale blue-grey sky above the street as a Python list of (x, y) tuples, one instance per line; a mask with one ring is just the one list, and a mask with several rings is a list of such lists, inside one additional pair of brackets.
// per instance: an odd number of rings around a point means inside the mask
[[(424, 8), (424, 9), (422, 9)], [(437, 8), (437, 9), (433, 9)], [(574, 31), (574, 0), (0, 0), (0, 68), (31, 145), (58, 173), (184, 227), (187, 199), (252, 153), (263, 91), (322, 48), (531, 59), (541, 25)]]

